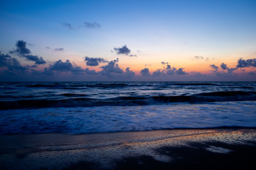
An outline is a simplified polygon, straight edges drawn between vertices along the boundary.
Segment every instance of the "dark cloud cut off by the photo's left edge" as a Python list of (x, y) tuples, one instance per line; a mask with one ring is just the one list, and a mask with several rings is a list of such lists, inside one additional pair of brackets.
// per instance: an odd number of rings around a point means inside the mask
[(11, 57), (10, 55), (4, 55), (0, 52), (0, 67), (7, 67), (9, 70), (13, 71), (25, 71), (27, 67), (21, 66), (20, 62), (16, 58)]

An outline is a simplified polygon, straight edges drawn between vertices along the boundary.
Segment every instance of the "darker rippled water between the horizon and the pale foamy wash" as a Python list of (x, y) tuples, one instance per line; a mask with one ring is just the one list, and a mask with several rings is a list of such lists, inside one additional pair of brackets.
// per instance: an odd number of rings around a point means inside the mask
[(255, 82), (17, 82), (0, 88), (1, 109), (256, 101)]

